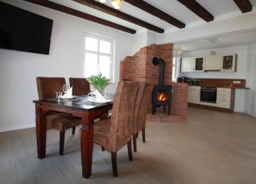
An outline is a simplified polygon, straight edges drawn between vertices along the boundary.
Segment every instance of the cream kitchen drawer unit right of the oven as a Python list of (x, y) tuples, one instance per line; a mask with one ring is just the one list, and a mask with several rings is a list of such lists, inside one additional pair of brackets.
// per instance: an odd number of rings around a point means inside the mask
[(231, 106), (231, 89), (217, 88), (217, 106), (221, 108), (230, 108)]

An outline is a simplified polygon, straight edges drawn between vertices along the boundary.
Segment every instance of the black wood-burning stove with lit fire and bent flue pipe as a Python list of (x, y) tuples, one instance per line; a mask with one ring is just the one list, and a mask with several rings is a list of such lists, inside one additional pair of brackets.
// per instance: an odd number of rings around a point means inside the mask
[(163, 59), (154, 57), (152, 60), (154, 66), (159, 65), (159, 83), (154, 86), (152, 92), (152, 114), (154, 114), (156, 107), (164, 106), (168, 108), (168, 114), (171, 114), (172, 104), (172, 85), (165, 85), (165, 61)]

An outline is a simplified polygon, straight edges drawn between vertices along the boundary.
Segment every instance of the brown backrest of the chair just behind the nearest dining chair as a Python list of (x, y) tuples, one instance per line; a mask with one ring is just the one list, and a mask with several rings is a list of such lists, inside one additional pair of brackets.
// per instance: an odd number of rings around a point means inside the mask
[(145, 129), (148, 106), (150, 106), (150, 96), (154, 86), (148, 83), (140, 83), (135, 102), (133, 116), (133, 134)]

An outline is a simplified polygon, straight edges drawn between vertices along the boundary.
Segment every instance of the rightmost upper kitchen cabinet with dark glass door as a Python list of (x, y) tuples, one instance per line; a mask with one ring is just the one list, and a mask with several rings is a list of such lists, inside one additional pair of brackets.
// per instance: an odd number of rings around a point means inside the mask
[(221, 62), (221, 72), (236, 72), (237, 55), (224, 55)]

